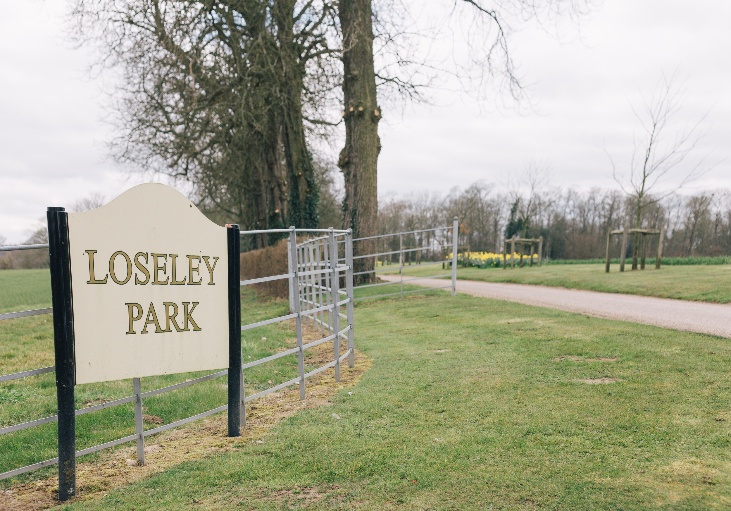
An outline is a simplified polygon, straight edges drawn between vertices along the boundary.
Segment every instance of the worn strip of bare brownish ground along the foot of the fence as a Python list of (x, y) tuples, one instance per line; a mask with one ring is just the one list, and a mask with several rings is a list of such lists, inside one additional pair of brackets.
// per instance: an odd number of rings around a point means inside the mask
[[(293, 325), (292, 322), (292, 328)], [(316, 341), (322, 336), (321, 333), (309, 328), (303, 334), (306, 342)], [(296, 341), (292, 340), (290, 344), (295, 345)], [(328, 363), (333, 357), (333, 344), (331, 342), (322, 343), (308, 349), (308, 352), (307, 363)], [(345, 352), (345, 348), (341, 346), (341, 353), (343, 352)], [(335, 382), (335, 374), (332, 368), (307, 379), (306, 401), (300, 401), (298, 385), (292, 385), (279, 392), (273, 392), (252, 401), (251, 404), (254, 406), (246, 406), (246, 426), (241, 428), (241, 436), (239, 437), (227, 436), (227, 415), (221, 413), (163, 431), (160, 434), (148, 436), (148, 444), (145, 445), (145, 464), (141, 466), (126, 464), (127, 459), (137, 459), (137, 446), (134, 442), (101, 451), (100, 457), (95, 461), (83, 462), (83, 458), (77, 458), (77, 495), (69, 499), (67, 503), (98, 501), (105, 496), (107, 491), (143, 480), (184, 461), (200, 460), (206, 456), (232, 452), (246, 447), (246, 445), (255, 444), (257, 440), (268, 434), (268, 431), (279, 420), (294, 415), (303, 409), (332, 404), (331, 400), (338, 390), (356, 385), (363, 373), (368, 371), (372, 365), (373, 360), (356, 350), (355, 367), (349, 368), (346, 360), (344, 360), (344, 364), (340, 368), (340, 382)], [(305, 488), (299, 489), (302, 492), (305, 490)], [(319, 489), (322, 488), (307, 488), (310, 493), (306, 493), (304, 496), (309, 496), (309, 498), (302, 502), (315, 502), (317, 501), (315, 500), (316, 494), (322, 494), (323, 496), (319, 497), (319, 499), (322, 499), (325, 492), (331, 493), (327, 488), (323, 493), (317, 493)], [(10, 491), (10, 495), (6, 491)], [(295, 488), (289, 491), (294, 492)], [(270, 496), (271, 500), (276, 500), (272, 495), (273, 493), (269, 490), (265, 495), (262, 494), (262, 497)], [(303, 493), (292, 493), (292, 501), (295, 502), (294, 497), (299, 499), (301, 495)], [(0, 493), (0, 510), (47, 510), (61, 504), (57, 500), (57, 496), (58, 475), (49, 477), (46, 480), (16, 484)], [(282, 493), (282, 496), (284, 496), (284, 493)]]

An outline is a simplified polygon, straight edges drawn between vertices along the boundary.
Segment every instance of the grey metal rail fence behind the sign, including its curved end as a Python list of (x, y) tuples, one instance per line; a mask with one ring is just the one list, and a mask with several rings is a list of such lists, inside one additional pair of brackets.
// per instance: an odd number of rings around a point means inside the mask
[[(300, 386), (300, 400), (305, 399), (306, 395), (306, 379), (310, 376), (314, 376), (315, 374), (325, 371), (327, 368), (334, 367), (336, 372), (336, 381), (340, 381), (340, 363), (342, 360), (344, 360), (345, 357), (348, 357), (349, 360), (349, 366), (353, 366), (353, 314), (352, 314), (352, 304), (353, 304), (353, 295), (352, 295), (352, 235), (351, 232), (344, 231), (344, 230), (325, 230), (325, 229), (295, 229), (294, 227), (290, 227), (289, 229), (273, 229), (273, 230), (259, 230), (259, 231), (242, 231), (240, 234), (265, 234), (265, 233), (273, 233), (273, 232), (289, 232), (289, 260), (295, 260), (300, 261), (300, 251), (298, 250), (297, 246), (297, 233), (326, 233), (325, 236), (321, 236), (320, 238), (316, 238), (317, 240), (323, 240), (327, 238), (328, 246), (334, 247), (336, 246), (334, 243), (336, 243), (336, 238), (344, 238), (342, 241), (338, 241), (338, 243), (344, 243), (345, 249), (344, 253), (346, 254), (346, 257), (344, 258), (344, 263), (340, 264), (337, 261), (337, 251), (335, 248), (330, 248), (328, 254), (335, 254), (333, 257), (330, 257), (330, 260), (327, 261), (327, 266), (325, 265), (325, 262), (323, 261), (323, 264), (317, 265), (316, 269), (315, 266), (311, 263), (305, 264), (298, 264), (296, 268), (290, 267), (289, 273), (285, 273), (284, 275), (274, 275), (274, 276), (268, 276), (268, 277), (262, 277), (260, 279), (250, 279), (246, 281), (241, 281), (241, 286), (246, 286), (249, 284), (256, 284), (257, 282), (265, 282), (265, 281), (272, 281), (272, 280), (278, 280), (278, 279), (289, 279), (290, 282), (290, 295), (294, 292), (294, 283), (300, 283), (300, 288), (303, 287), (303, 283), (305, 282), (311, 282), (314, 280), (314, 276), (323, 276), (326, 277), (328, 281), (333, 282), (333, 292), (330, 292), (329, 296), (337, 296), (338, 298), (340, 295), (344, 295), (344, 300), (339, 301), (327, 301), (327, 303), (322, 303), (322, 300), (320, 303), (317, 303), (317, 307), (314, 306), (315, 301), (311, 300), (311, 302), (308, 302), (306, 305), (308, 306), (308, 309), (306, 311), (300, 311), (300, 301), (295, 300), (295, 303), (293, 304), (294, 308), (291, 311), (291, 314), (287, 314), (280, 317), (275, 317), (272, 319), (266, 319), (265, 321), (260, 321), (256, 323), (251, 323), (249, 325), (243, 325), (241, 327), (241, 331), (243, 330), (250, 330), (251, 328), (257, 328), (263, 325), (270, 325), (272, 323), (276, 322), (282, 322), (286, 321), (287, 319), (295, 319), (295, 328), (297, 331), (297, 347), (292, 349), (287, 349), (284, 352), (277, 353), (276, 355), (271, 355), (270, 357), (264, 357), (260, 358), (259, 360), (254, 360), (249, 363), (245, 363), (241, 365), (240, 371), (241, 371), (241, 386), (240, 386), (240, 400), (242, 404), (241, 408), (241, 425), (246, 425), (246, 414), (245, 414), (245, 404), (249, 401), (257, 398), (261, 398), (269, 393), (276, 392), (276, 390), (281, 390), (284, 387), (289, 387), (289, 385), (299, 385)], [(39, 245), (21, 245), (21, 246), (4, 246), (0, 247), (0, 251), (11, 251), (11, 250), (27, 250), (27, 249), (48, 249), (48, 243), (43, 243)], [(304, 255), (304, 252), (303, 252)], [(344, 292), (337, 289), (338, 286), (338, 278), (333, 278), (333, 276), (340, 276), (342, 273), (345, 273), (346, 281), (349, 281), (350, 284), (348, 287), (346, 287), (346, 290)], [(347, 306), (348, 314), (341, 314), (340, 313), (340, 307), (341, 306)], [(7, 314), (0, 314), (0, 320), (3, 319), (12, 319), (12, 318), (18, 318), (18, 317), (27, 317), (27, 316), (35, 316), (37, 314), (53, 314), (53, 309), (35, 309), (32, 311), (19, 311), (19, 312), (10, 312)], [(332, 330), (334, 333), (333, 335), (327, 336), (325, 338), (319, 339), (314, 342), (310, 342), (308, 344), (303, 344), (303, 333), (302, 333), (302, 318), (304, 317), (307, 321), (314, 320), (317, 318), (317, 314), (320, 314), (320, 324), (322, 325), (322, 317), (325, 317), (325, 314), (327, 314), (327, 317), (329, 318), (336, 318), (335, 321), (330, 321), (327, 323), (329, 330)], [(346, 327), (341, 330), (341, 323), (340, 319), (346, 320)], [(313, 321), (314, 324), (314, 321)], [(324, 330), (323, 330), (324, 332)], [(347, 350), (343, 355), (340, 355), (339, 353), (339, 347), (340, 347), (340, 338), (346, 337), (347, 339)], [(314, 371), (309, 371), (308, 373), (305, 372), (305, 365), (304, 365), (304, 350), (315, 347), (318, 344), (322, 344), (324, 342), (333, 340), (333, 361), (330, 363), (325, 364), (325, 366), (319, 367), (315, 369)], [(262, 390), (259, 393), (252, 394), (249, 396), (244, 395), (244, 387), (243, 387), (243, 370), (246, 368), (250, 368), (253, 366), (258, 366), (259, 364), (269, 362), (270, 360), (275, 360), (279, 357), (286, 357), (287, 355), (297, 355), (298, 360), (298, 376), (296, 378), (290, 379), (288, 382), (281, 383), (279, 385), (275, 385), (274, 387), (270, 387), (266, 390)], [(21, 371), (14, 374), (6, 374), (4, 376), (0, 376), (0, 382), (8, 382), (13, 379), (18, 378), (26, 378), (29, 376), (36, 376), (38, 374), (45, 374), (55, 371), (55, 366), (45, 367), (45, 368), (39, 368), (39, 369), (32, 369), (30, 371)], [(170, 428), (175, 428), (176, 426), (183, 425), (186, 423), (190, 423), (194, 420), (202, 419), (203, 417), (208, 417), (208, 415), (213, 415), (218, 412), (223, 412), (224, 410), (227, 410), (229, 405), (224, 404), (223, 406), (219, 406), (218, 408), (214, 408), (212, 410), (208, 410), (207, 412), (202, 412), (197, 415), (193, 415), (192, 417), (186, 417), (182, 420), (177, 420), (170, 424), (161, 425), (157, 428), (148, 429), (145, 431), (143, 427), (143, 398), (148, 398), (153, 395), (159, 395), (162, 393), (167, 393), (172, 390), (178, 390), (183, 387), (188, 387), (189, 385), (196, 385), (200, 382), (205, 382), (209, 379), (213, 378), (219, 378), (220, 376), (225, 376), (228, 374), (228, 369), (224, 371), (219, 371), (213, 374), (208, 374), (206, 376), (201, 376), (200, 378), (192, 379), (188, 382), (181, 382), (175, 385), (170, 385), (168, 387), (163, 387), (155, 390), (150, 390), (148, 392), (142, 392), (140, 389), (140, 379), (134, 378), (132, 379), (132, 395), (127, 396), (126, 398), (116, 399), (115, 401), (108, 401), (107, 403), (97, 404), (94, 406), (88, 406), (84, 409), (77, 409), (75, 411), (75, 415), (84, 415), (91, 412), (96, 412), (101, 409), (110, 408), (111, 406), (118, 406), (125, 403), (135, 403), (135, 428), (136, 432), (133, 435), (124, 436), (124, 438), (112, 440), (111, 442), (105, 442), (104, 444), (95, 445), (94, 447), (88, 447), (83, 450), (78, 450), (76, 452), (76, 457), (94, 453), (96, 451), (107, 449), (108, 447), (114, 447), (115, 445), (124, 444), (126, 442), (132, 442), (135, 440), (137, 442), (137, 461), (139, 463), (145, 462), (145, 437), (154, 435), (156, 433), (160, 433), (162, 431), (165, 431)], [(27, 423), (21, 423), (21, 424), (15, 424), (10, 425), (5, 428), (0, 428), (0, 434), (8, 434), (12, 433), (13, 431), (20, 431), (21, 429), (25, 428), (31, 428), (33, 426), (42, 425), (46, 423), (55, 422), (58, 420), (58, 415), (52, 415), (50, 417), (44, 417), (42, 419), (37, 420), (31, 420)], [(33, 463), (28, 466), (22, 466), (18, 469), (10, 470), (8, 472), (4, 472), (0, 474), (0, 480), (7, 479), (8, 477), (13, 477), (18, 474), (23, 474), (25, 472), (30, 472), (34, 469), (40, 469), (44, 466), (49, 466), (58, 463), (58, 458), (52, 458), (50, 460), (41, 461), (39, 463)]]

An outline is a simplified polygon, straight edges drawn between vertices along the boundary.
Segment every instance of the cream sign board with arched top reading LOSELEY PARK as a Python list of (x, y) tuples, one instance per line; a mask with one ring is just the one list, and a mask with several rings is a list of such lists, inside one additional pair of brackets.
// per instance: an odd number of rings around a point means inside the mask
[(228, 367), (226, 227), (158, 183), (68, 219), (77, 384)]

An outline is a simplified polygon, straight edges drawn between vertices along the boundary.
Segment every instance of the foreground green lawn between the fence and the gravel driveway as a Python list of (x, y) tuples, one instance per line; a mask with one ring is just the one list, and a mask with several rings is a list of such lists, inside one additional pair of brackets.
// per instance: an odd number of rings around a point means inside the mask
[(333, 406), (69, 508), (731, 507), (727, 339), (445, 295), (358, 306), (374, 366)]

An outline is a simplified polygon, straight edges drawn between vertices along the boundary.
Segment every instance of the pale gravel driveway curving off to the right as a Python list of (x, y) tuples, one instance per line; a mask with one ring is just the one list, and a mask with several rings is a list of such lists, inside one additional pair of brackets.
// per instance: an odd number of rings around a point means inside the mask
[[(398, 275), (382, 275), (381, 278), (398, 282)], [(409, 284), (441, 287), (447, 285), (446, 282), (448, 281), (445, 279), (425, 279), (409, 282)], [(457, 291), (484, 298), (578, 312), (587, 316), (621, 319), (656, 327), (710, 333), (713, 336), (731, 338), (731, 305), (583, 291), (564, 287), (467, 280), (457, 281)]]

